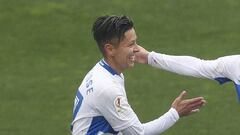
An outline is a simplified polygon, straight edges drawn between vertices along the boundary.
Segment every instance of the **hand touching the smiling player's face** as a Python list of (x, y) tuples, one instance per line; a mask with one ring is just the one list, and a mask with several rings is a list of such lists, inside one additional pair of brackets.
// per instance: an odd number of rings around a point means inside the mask
[(136, 50), (137, 51), (135, 52), (135, 62), (147, 64), (149, 52), (139, 45), (137, 45)]

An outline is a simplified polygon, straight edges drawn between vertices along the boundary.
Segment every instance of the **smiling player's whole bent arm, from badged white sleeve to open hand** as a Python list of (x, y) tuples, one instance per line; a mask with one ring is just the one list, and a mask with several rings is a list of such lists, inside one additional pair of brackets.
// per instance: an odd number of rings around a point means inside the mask
[[(111, 91), (116, 87), (111, 88)], [(198, 112), (198, 109), (205, 103), (202, 97), (194, 99), (184, 99), (186, 92), (183, 92), (173, 102), (171, 109), (153, 121), (142, 124), (137, 115), (128, 104), (123, 95), (114, 92), (108, 92), (101, 95), (101, 102), (97, 107), (104, 115), (109, 124), (115, 131), (129, 135), (155, 135), (164, 132), (174, 125), (179, 117)]]

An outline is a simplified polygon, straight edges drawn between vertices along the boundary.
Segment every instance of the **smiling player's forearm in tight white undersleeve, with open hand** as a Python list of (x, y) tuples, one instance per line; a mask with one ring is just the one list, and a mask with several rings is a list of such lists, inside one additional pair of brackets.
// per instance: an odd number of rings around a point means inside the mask
[[(156, 135), (164, 132), (171, 126), (173, 126), (179, 117), (188, 116), (190, 114), (199, 112), (199, 108), (206, 103), (203, 97), (197, 97), (193, 99), (185, 100), (184, 97), (187, 95), (183, 91), (172, 103), (172, 108), (153, 121), (142, 124), (145, 135)], [(131, 134), (132, 129), (135, 128), (131, 126), (123, 131), (123, 133)]]

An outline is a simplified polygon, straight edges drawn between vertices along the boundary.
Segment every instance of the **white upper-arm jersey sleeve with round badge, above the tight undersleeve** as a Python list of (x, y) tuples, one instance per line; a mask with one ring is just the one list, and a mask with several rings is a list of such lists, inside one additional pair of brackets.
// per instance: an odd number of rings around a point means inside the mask
[(98, 111), (115, 131), (140, 123), (121, 88), (116, 86), (105, 88), (97, 98), (99, 98), (96, 103)]

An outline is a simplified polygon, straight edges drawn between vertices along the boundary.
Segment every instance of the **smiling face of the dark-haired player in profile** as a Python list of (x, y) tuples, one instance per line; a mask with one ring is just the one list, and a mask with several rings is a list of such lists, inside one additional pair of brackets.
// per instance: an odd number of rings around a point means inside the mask
[(124, 33), (124, 39), (115, 48), (114, 61), (121, 72), (134, 66), (135, 53), (138, 52), (136, 40), (137, 35), (132, 28)]

